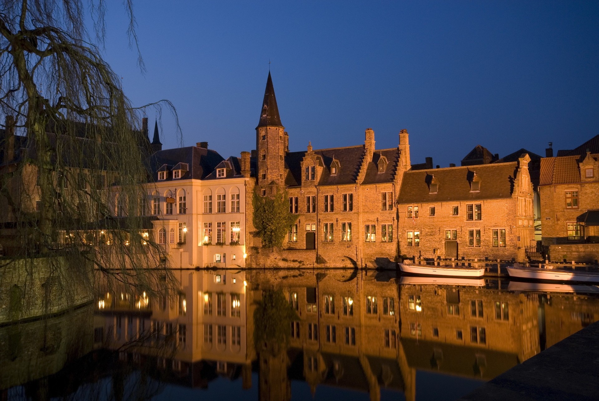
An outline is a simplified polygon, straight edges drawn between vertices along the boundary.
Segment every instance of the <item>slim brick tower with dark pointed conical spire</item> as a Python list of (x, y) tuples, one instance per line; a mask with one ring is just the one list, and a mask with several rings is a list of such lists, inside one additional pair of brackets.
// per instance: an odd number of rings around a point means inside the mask
[(256, 126), (258, 186), (282, 186), (285, 181), (285, 127), (279, 117), (270, 72), (264, 91), (260, 121)]

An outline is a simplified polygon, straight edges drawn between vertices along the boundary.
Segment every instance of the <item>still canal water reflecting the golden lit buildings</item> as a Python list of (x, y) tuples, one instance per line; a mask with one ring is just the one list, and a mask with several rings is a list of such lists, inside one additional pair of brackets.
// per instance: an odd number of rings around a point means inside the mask
[[(176, 270), (0, 325), (4, 400), (455, 400), (599, 319), (599, 288)], [(4, 306), (2, 306), (4, 307)]]

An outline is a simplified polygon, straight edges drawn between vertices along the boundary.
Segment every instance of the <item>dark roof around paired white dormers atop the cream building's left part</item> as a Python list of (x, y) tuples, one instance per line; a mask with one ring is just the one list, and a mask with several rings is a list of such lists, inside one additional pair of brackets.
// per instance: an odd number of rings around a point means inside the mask
[[(205, 149), (197, 146), (178, 147), (176, 149), (159, 150), (147, 159), (147, 164), (152, 172), (153, 180), (158, 180), (158, 169), (162, 165), (177, 165), (187, 163), (189, 171), (186, 171), (180, 179), (203, 180), (224, 159), (215, 150)], [(172, 174), (165, 181), (173, 180)]]

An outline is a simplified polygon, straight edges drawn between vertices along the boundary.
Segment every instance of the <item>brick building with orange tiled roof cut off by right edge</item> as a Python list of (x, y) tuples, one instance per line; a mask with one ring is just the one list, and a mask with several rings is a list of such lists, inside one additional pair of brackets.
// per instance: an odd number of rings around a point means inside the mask
[(599, 135), (541, 159), (543, 245), (553, 261), (599, 259)]

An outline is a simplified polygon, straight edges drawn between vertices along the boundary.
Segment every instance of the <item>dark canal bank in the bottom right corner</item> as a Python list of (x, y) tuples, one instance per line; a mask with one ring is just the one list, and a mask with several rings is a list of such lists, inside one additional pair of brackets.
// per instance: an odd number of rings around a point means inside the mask
[(597, 400), (598, 338), (599, 322), (595, 322), (507, 370), (460, 400)]

